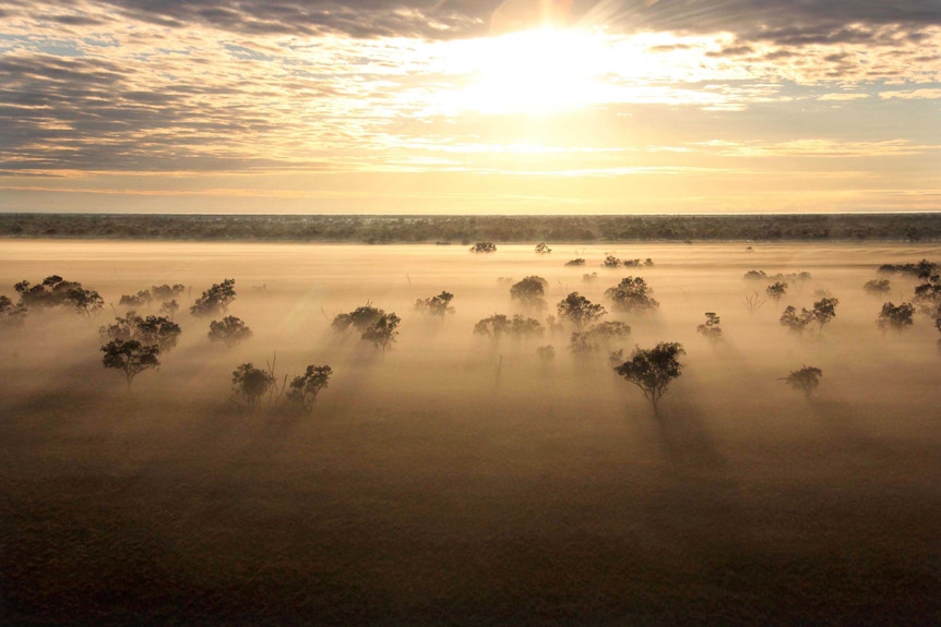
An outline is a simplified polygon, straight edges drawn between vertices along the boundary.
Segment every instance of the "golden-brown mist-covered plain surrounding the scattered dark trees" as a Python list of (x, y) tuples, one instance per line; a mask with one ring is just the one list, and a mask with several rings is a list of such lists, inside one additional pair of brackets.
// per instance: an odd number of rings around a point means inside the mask
[[(86, 318), (32, 311), (0, 343), (0, 615), (10, 624), (931, 624), (941, 622), (941, 350), (883, 263), (928, 244), (457, 245), (5, 241), (0, 294), (61, 275)], [(651, 267), (601, 267), (606, 254)], [(586, 265), (565, 266), (583, 257)], [(809, 272), (778, 303), (746, 305)], [(597, 273), (592, 281), (583, 275)], [(547, 280), (541, 311), (510, 298)], [(641, 276), (658, 311), (605, 290)], [(253, 336), (227, 349), (188, 313), (225, 278)], [(132, 385), (103, 367), (122, 294), (183, 284), (177, 347)], [(417, 299), (446, 290), (453, 314)], [(654, 413), (572, 328), (499, 343), (477, 321), (545, 322), (579, 291), (632, 327), (611, 348), (678, 341)], [(839, 299), (801, 336), (784, 308)], [(402, 318), (376, 350), (331, 328), (371, 303)], [(156, 314), (156, 303), (136, 308)], [(724, 341), (696, 333), (704, 312)], [(216, 316), (221, 317), (221, 316)], [(539, 346), (556, 358), (543, 363)], [(333, 377), (310, 414), (230, 400), (239, 364)], [(781, 378), (820, 367), (814, 396)]]

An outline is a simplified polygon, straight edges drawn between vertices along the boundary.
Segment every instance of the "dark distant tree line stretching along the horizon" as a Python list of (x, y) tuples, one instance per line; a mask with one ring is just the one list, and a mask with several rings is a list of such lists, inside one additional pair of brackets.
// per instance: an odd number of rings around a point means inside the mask
[(369, 244), (938, 241), (941, 214), (330, 216), (0, 214), (0, 237)]

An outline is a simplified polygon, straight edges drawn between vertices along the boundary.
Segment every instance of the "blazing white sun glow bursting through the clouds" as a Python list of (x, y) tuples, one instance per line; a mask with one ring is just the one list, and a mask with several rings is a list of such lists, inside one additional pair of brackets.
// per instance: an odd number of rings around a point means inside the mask
[(603, 36), (541, 27), (462, 43), (452, 50), (460, 76), (444, 105), (457, 111), (548, 114), (606, 100), (611, 55)]

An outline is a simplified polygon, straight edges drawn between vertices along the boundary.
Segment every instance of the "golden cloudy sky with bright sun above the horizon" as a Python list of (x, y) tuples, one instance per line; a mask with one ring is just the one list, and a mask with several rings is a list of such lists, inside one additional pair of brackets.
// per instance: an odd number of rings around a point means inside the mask
[(941, 209), (941, 0), (0, 0), (0, 212)]

